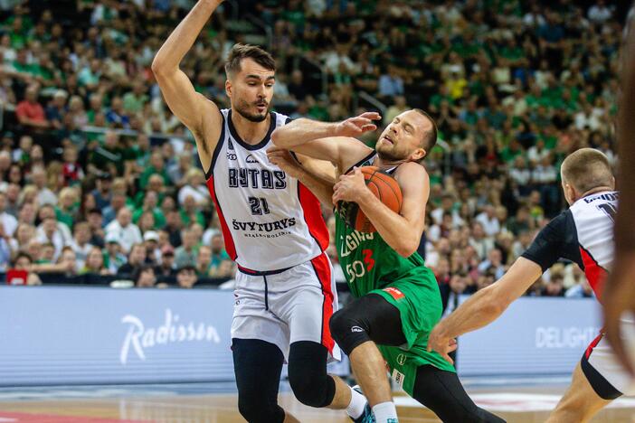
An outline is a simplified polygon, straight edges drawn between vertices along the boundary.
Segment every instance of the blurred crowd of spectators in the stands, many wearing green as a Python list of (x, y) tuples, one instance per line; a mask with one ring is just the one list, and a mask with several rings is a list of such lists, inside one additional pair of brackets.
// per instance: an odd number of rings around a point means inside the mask
[[(194, 2), (10, 3), (0, 23), (0, 268), (28, 268), (30, 283), (47, 272), (144, 287), (231, 278), (193, 137), (150, 71)], [(292, 118), (377, 109), (386, 124), (428, 110), (441, 142), (425, 161), (420, 251), (451, 302), (493, 283), (564, 210), (565, 155), (592, 146), (614, 163), (623, 14), (603, 0), (232, 0), (182, 69), (227, 107), (223, 58), (255, 40), (278, 61), (275, 108)], [(528, 295), (591, 293), (579, 269), (559, 263)]]

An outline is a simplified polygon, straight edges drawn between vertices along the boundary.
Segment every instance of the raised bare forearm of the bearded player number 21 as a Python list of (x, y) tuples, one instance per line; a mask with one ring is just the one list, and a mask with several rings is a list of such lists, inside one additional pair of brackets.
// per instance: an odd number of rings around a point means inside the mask
[(156, 53), (152, 62), (152, 71), (156, 73), (173, 72), (185, 54), (192, 48), (196, 37), (201, 33), (213, 11), (223, 3), (223, 0), (199, 0), (181, 24), (167, 37), (166, 42)]

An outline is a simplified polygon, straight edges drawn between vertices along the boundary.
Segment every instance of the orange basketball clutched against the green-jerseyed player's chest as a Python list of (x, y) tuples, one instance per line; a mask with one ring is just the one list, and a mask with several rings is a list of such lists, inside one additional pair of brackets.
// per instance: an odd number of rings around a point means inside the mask
[[(402, 190), (393, 176), (375, 166), (364, 166), (360, 170), (364, 174), (366, 186), (380, 202), (394, 212), (402, 210)], [(351, 228), (360, 232), (375, 231), (373, 223), (366, 218), (364, 211), (355, 202), (339, 202), (337, 210)]]

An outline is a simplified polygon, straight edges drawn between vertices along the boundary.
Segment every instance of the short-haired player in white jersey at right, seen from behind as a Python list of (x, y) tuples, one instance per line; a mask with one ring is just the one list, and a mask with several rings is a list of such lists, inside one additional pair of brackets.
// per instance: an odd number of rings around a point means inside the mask
[[(564, 197), (570, 208), (549, 222), (504, 277), (460, 305), (435, 326), (428, 348), (450, 361), (454, 339), (490, 324), (559, 258), (583, 268), (602, 301), (602, 284), (612, 267), (613, 219), (618, 193), (609, 160), (600, 151), (582, 148), (561, 168)], [(598, 335), (573, 371), (573, 380), (548, 422), (587, 421), (611, 400), (633, 395), (629, 374), (621, 368), (603, 334)]]

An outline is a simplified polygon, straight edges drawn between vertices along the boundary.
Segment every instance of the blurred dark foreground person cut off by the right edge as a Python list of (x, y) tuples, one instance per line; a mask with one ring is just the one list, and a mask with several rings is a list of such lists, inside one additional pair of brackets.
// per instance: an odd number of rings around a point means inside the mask
[[(621, 103), (617, 136), (620, 157), (620, 209), (615, 220), (615, 263), (603, 297), (604, 329), (613, 352), (635, 381), (635, 31), (628, 14), (622, 47)], [(629, 315), (630, 314), (630, 315)]]

